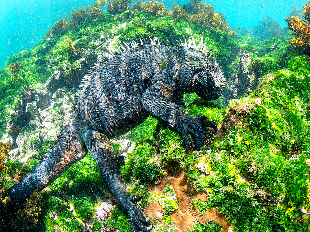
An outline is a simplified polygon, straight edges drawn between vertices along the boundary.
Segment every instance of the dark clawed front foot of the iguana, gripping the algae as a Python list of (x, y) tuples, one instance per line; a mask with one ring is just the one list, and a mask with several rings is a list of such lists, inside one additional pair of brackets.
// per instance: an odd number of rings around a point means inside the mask
[(198, 114), (195, 117), (187, 116), (181, 118), (176, 122), (175, 129), (183, 139), (185, 149), (189, 146), (189, 136), (192, 135), (195, 138), (195, 150), (199, 150), (205, 140), (206, 131), (202, 127), (211, 127), (217, 132), (217, 126), (215, 122), (206, 121), (207, 117), (203, 114)]

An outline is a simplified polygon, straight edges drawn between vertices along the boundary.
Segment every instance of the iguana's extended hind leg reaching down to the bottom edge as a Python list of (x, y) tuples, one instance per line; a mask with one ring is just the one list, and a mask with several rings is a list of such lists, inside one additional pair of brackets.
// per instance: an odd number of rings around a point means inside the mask
[(128, 213), (132, 231), (150, 231), (152, 229), (152, 225), (148, 226), (150, 219), (145, 217), (131, 202), (138, 200), (140, 196), (131, 195), (128, 192), (124, 179), (119, 171), (119, 164), (110, 140), (106, 135), (91, 129), (88, 129), (83, 134), (83, 140), (87, 150), (97, 162), (101, 176), (108, 185), (109, 191)]

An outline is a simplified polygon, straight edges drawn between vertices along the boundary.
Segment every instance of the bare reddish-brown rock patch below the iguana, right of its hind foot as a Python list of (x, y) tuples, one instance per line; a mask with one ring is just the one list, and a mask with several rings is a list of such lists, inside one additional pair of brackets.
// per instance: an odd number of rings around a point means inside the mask
[[(172, 188), (174, 195), (166, 193), (168, 186)], [(151, 219), (155, 230), (168, 226), (178, 231), (186, 231), (193, 229), (196, 220), (200, 223), (215, 221), (222, 226), (221, 231), (227, 231), (230, 227), (225, 216), (218, 213), (216, 208), (200, 212), (198, 207), (193, 205), (195, 200), (206, 202), (207, 191), (194, 190), (191, 187), (191, 180), (184, 172), (158, 180), (155, 186), (149, 188), (149, 191), (151, 192), (150, 203), (145, 208), (144, 214)], [(175, 205), (177, 210), (172, 213), (165, 212), (165, 208), (173, 206), (174, 199), (178, 201)]]

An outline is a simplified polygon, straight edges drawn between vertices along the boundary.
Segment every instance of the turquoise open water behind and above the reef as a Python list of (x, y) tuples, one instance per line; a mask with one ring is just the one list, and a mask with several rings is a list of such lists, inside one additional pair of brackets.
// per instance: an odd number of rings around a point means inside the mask
[[(75, 9), (88, 7), (95, 0), (17, 0), (1, 1), (0, 11), (0, 68), (7, 58), (17, 52), (29, 49), (42, 41), (42, 37), (54, 23), (63, 18), (70, 18)], [(134, 3), (133, 1), (132, 3)], [(172, 10), (173, 3), (183, 6), (189, 1), (163, 1), (168, 10)], [(255, 26), (259, 19), (266, 16), (277, 20), (282, 27), (286, 26), (284, 18), (291, 12), (292, 6), (301, 8), (306, 4), (304, 0), (295, 1), (216, 1), (209, 0), (215, 12), (223, 13), (231, 28)], [(106, 12), (106, 6), (101, 7)], [(263, 7), (262, 7), (263, 6)]]

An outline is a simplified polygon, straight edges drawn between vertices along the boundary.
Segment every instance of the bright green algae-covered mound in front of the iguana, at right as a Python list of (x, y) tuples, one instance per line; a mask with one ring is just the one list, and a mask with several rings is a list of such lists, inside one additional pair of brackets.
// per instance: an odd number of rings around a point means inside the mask
[(309, 109), (301, 103), (309, 101), (310, 73), (303, 56), (287, 65), (265, 76), (248, 97), (230, 102), (229, 112), (241, 121), (203, 153), (210, 165), (200, 169), (206, 177), (192, 175), (196, 188), (209, 191), (208, 201), (194, 205), (201, 213), (217, 207), (236, 230), (309, 229), (299, 209), (310, 207)]

